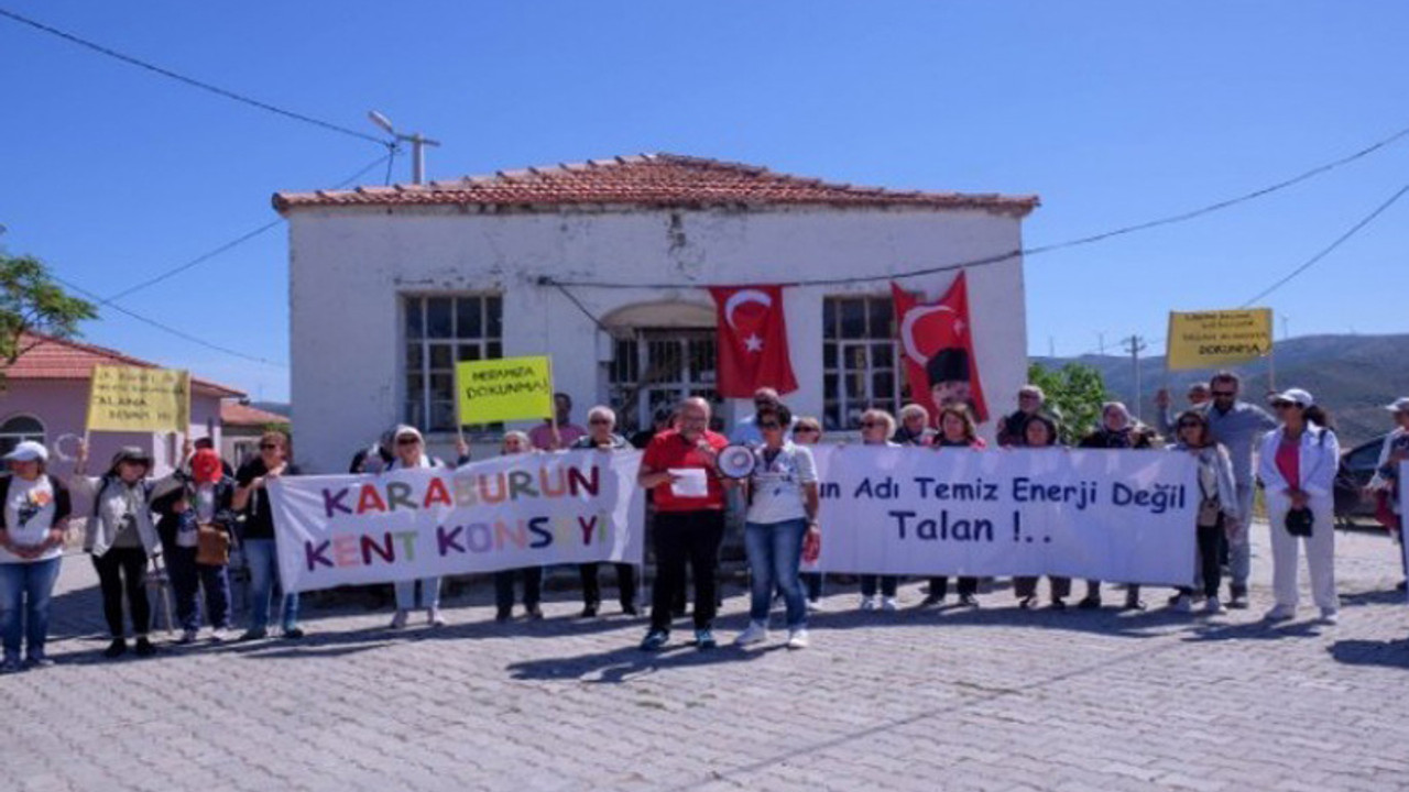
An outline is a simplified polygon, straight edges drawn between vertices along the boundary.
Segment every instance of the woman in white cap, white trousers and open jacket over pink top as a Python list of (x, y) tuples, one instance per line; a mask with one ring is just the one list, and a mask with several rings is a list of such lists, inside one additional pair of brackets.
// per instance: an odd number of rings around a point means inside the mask
[(1257, 465), (1272, 531), (1272, 593), (1277, 598), (1265, 619), (1296, 617), (1296, 567), (1305, 543), (1312, 599), (1320, 607), (1322, 623), (1336, 624), (1340, 600), (1336, 596), (1334, 482), (1340, 443), (1330, 416), (1306, 390), (1292, 388), (1272, 396), (1271, 402), (1281, 424), (1262, 438)]

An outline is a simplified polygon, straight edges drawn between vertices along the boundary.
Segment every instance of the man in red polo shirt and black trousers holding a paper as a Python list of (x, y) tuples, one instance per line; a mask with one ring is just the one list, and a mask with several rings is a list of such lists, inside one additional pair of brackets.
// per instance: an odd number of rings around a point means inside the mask
[(724, 538), (724, 482), (714, 466), (728, 444), (709, 430), (704, 399), (681, 404), (678, 428), (657, 434), (645, 447), (637, 481), (655, 502), (655, 586), (651, 589), (651, 629), (641, 641), (647, 651), (671, 638), (671, 595), (685, 581), (685, 564), (695, 576), (695, 645), (714, 648), (714, 567)]

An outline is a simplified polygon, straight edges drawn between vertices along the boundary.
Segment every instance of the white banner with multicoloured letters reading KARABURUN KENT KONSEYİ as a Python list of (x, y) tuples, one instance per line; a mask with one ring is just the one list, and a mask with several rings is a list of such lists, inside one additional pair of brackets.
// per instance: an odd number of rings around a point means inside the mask
[(290, 592), (550, 564), (641, 564), (640, 451), (269, 483)]

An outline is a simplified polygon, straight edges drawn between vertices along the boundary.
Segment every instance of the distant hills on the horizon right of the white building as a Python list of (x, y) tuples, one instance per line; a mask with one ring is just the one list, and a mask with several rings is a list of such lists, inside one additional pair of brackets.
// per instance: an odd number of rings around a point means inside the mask
[[(1389, 430), (1382, 409), (1399, 396), (1409, 396), (1409, 335), (1303, 335), (1277, 342), (1277, 388), (1305, 388), (1336, 420), (1341, 445), (1348, 448)], [(1045, 368), (1068, 362), (1095, 366), (1112, 397), (1131, 403), (1134, 366), (1130, 357), (1084, 355), (1081, 358), (1034, 357)], [(1261, 397), (1270, 389), (1268, 361), (1239, 366), (1244, 397)], [(1212, 371), (1178, 371), (1167, 375), (1164, 357), (1140, 359), (1141, 413), (1153, 423), (1154, 392), (1169, 386), (1177, 404), (1191, 382), (1208, 380)], [(1134, 404), (1131, 404), (1131, 409)]]

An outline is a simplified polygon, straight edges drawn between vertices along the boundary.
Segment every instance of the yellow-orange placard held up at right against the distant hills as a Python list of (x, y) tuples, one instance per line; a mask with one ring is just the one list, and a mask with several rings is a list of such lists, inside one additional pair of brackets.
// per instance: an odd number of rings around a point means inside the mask
[(1169, 311), (1169, 371), (1219, 368), (1272, 351), (1272, 309)]

